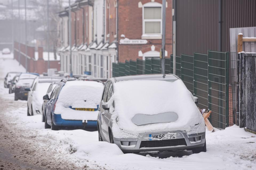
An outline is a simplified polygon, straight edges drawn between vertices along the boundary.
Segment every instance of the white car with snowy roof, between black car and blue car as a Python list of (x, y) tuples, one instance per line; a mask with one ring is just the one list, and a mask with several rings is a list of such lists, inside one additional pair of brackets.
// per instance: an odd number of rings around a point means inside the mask
[(43, 96), (52, 82), (60, 82), (61, 77), (37, 77), (34, 79), (31, 88), (26, 88), (27, 96), (27, 116), (42, 114)]

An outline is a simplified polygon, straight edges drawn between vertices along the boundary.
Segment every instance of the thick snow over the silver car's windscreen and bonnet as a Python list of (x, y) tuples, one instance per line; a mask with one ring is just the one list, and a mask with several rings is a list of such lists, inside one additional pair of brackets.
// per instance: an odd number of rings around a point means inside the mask
[[(115, 108), (110, 108), (115, 138), (136, 137), (154, 129), (158, 131), (182, 130), (188, 134), (205, 131), (203, 117), (195, 105), (191, 93), (181, 80), (174, 82), (159, 80), (129, 80), (114, 84)], [(178, 120), (169, 123), (157, 123), (143, 126), (135, 125), (131, 120), (136, 114), (154, 115), (174, 112)], [(198, 124), (198, 125), (196, 125)], [(122, 129), (122, 130), (120, 130)]]

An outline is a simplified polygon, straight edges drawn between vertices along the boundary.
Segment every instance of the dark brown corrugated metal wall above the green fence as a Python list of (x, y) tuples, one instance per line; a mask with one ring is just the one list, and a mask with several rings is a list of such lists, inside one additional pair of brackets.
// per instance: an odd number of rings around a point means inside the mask
[[(177, 55), (218, 50), (218, 0), (176, 3)], [(229, 51), (229, 28), (256, 26), (256, 1), (222, 0), (222, 21), (222, 51)]]

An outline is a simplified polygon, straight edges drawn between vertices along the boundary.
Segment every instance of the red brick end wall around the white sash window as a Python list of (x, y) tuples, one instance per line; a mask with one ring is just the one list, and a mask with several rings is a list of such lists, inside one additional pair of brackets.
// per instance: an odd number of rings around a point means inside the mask
[[(111, 0), (110, 0), (111, 1)], [(123, 39), (122, 34), (128, 39), (142, 39), (142, 8), (138, 7), (138, 3), (145, 4), (151, 2), (151, 0), (134, 0), (126, 1), (120, 0), (118, 4), (118, 39)], [(155, 2), (161, 3), (161, 0), (155, 0)], [(167, 0), (166, 8), (166, 51), (167, 57), (172, 54), (172, 1)], [(150, 51), (151, 46), (154, 45), (155, 51), (160, 52), (162, 46), (161, 39), (147, 39), (147, 44), (139, 45), (118, 45), (119, 62), (125, 60), (142, 59), (138, 56), (138, 52), (141, 50), (143, 53)]]

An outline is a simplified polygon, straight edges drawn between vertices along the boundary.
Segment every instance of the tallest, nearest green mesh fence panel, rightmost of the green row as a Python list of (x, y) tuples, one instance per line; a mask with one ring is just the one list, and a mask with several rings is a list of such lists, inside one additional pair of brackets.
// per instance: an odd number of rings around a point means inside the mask
[(208, 107), (210, 121), (219, 129), (229, 126), (229, 53), (208, 51)]

